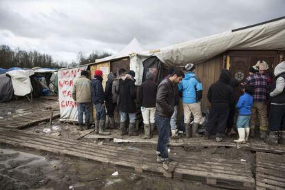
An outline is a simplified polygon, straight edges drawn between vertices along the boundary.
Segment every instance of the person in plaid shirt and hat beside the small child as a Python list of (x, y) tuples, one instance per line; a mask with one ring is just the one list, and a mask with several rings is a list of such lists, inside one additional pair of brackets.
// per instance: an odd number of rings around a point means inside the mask
[[(258, 63), (258, 62), (257, 62)], [(268, 94), (268, 78), (262, 74), (262, 72), (256, 72), (260, 67), (254, 65), (249, 69), (249, 72), (253, 72), (248, 76), (242, 85), (253, 86), (253, 107), (251, 107), (251, 131), (250, 136), (255, 136), (255, 125), (257, 117), (260, 120), (260, 138), (266, 138), (266, 131), (268, 128), (267, 119), (267, 94)], [(263, 68), (262, 68), (263, 69)]]

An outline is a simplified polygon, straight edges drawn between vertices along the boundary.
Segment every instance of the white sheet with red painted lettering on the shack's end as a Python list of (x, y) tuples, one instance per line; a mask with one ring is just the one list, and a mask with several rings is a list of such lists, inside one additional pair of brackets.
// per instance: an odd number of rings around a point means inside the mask
[(59, 70), (59, 109), (60, 120), (77, 121), (77, 104), (72, 98), (74, 81), (81, 76), (81, 71), (87, 70), (88, 66), (73, 67), (67, 70)]

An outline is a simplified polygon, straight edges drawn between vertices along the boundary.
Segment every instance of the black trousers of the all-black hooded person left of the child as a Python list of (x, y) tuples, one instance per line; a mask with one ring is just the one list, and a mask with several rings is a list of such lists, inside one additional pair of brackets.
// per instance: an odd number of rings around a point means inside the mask
[(224, 136), (228, 116), (229, 105), (212, 105), (206, 124), (205, 136), (211, 134), (215, 134), (216, 137)]

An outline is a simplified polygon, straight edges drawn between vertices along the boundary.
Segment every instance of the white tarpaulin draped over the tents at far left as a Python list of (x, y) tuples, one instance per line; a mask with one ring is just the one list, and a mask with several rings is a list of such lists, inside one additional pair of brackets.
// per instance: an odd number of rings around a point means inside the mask
[(6, 74), (11, 76), (15, 95), (25, 96), (32, 92), (30, 76), (34, 74), (33, 70), (13, 70)]

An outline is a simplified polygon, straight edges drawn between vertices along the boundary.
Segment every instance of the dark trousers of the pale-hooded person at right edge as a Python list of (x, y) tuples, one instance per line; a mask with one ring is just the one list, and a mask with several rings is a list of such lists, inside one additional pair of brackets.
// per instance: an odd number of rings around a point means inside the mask
[(270, 105), (269, 129), (270, 131), (285, 130), (285, 105)]

